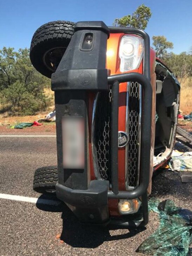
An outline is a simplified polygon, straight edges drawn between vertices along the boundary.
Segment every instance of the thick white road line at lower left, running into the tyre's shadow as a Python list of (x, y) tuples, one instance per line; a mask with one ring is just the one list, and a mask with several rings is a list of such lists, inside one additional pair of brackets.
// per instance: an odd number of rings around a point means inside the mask
[(60, 201), (51, 200), (51, 199), (41, 199), (35, 197), (26, 197), (26, 196), (15, 196), (15, 195), (8, 195), (8, 194), (1, 194), (0, 198), (20, 201), (20, 202), (28, 202), (28, 203), (38, 203), (38, 204), (48, 204), (48, 205), (59, 205)]

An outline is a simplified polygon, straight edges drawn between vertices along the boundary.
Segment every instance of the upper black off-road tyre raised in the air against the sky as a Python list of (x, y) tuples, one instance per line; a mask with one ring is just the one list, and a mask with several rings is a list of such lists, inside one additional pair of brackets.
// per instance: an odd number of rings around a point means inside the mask
[(35, 31), (30, 47), (30, 59), (34, 68), (51, 78), (74, 34), (74, 22), (52, 21)]

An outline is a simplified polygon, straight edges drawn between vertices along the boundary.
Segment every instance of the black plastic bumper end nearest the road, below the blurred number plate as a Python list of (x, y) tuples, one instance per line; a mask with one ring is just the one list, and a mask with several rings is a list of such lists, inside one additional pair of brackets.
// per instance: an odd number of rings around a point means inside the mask
[(71, 208), (81, 222), (103, 224), (108, 221), (108, 181), (92, 180), (87, 190), (56, 185), (57, 197)]

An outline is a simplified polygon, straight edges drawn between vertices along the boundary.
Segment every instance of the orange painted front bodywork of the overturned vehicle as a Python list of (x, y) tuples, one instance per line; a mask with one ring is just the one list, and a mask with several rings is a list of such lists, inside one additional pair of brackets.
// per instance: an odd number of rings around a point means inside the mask
[[(121, 38), (124, 36), (124, 33), (111, 33), (110, 38), (107, 40), (107, 59), (106, 59), (106, 68), (109, 70), (110, 75), (120, 74), (120, 58), (119, 58), (119, 45)], [(114, 47), (115, 45), (115, 47)], [(151, 160), (150, 160), (150, 183), (148, 186), (148, 195), (151, 194), (151, 178), (153, 173), (153, 154), (154, 154), (154, 139), (155, 139), (155, 87), (156, 87), (156, 74), (155, 74), (155, 51), (150, 49), (150, 67), (151, 67), (151, 86), (153, 90), (152, 95), (152, 113), (151, 113)], [(143, 74), (143, 61), (141, 61), (140, 66), (129, 72), (136, 72)], [(129, 73), (126, 72), (126, 73)], [(127, 83), (120, 83), (119, 86), (119, 120), (118, 120), (118, 130), (125, 131), (126, 126), (126, 91)], [(92, 112), (93, 112), (93, 101), (95, 94), (90, 93), (89, 95), (89, 126), (91, 127), (92, 123)], [(90, 152), (91, 149), (91, 129), (90, 131)], [(92, 152), (93, 153), (93, 152)], [(93, 167), (93, 156), (90, 154), (90, 174), (91, 180), (96, 179)], [(118, 185), (119, 190), (125, 191), (125, 147), (118, 149)], [(118, 210), (118, 199), (108, 199), (109, 212), (112, 216), (120, 216)]]

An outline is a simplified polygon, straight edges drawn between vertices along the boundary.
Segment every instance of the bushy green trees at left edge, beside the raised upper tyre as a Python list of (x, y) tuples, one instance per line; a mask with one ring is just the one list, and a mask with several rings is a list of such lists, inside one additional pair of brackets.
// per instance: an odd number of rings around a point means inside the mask
[(44, 88), (50, 80), (35, 70), (29, 50), (4, 47), (0, 51), (0, 103), (10, 114), (29, 115), (46, 110), (50, 98)]

